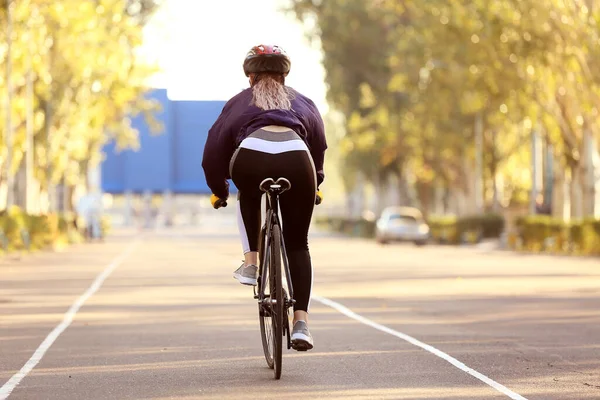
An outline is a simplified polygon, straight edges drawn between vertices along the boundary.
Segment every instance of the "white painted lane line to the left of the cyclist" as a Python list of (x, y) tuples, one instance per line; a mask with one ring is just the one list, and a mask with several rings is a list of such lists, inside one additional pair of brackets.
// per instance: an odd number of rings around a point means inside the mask
[(31, 356), (29, 361), (25, 363), (23, 368), (16, 374), (14, 374), (8, 382), (6, 382), (2, 387), (0, 387), (0, 400), (6, 400), (11, 392), (19, 385), (19, 383), (31, 372), (33, 368), (41, 361), (46, 354), (46, 351), (52, 346), (54, 341), (71, 325), (75, 315), (83, 306), (83, 304), (89, 299), (104, 283), (106, 278), (110, 276), (110, 274), (120, 266), (127, 257), (131, 255), (131, 253), (135, 250), (135, 248), (141, 243), (141, 239), (137, 239), (127, 246), (125, 251), (121, 253), (117, 258), (115, 258), (110, 264), (108, 264), (104, 270), (96, 277), (91, 286), (83, 293), (69, 308), (69, 310), (65, 313), (63, 320), (60, 324), (56, 326), (48, 334), (46, 339), (40, 344), (35, 353)]

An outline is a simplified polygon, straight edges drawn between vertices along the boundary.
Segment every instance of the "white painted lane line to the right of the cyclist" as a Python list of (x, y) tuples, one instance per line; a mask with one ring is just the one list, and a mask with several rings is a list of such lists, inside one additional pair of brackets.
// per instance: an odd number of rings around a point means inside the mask
[(405, 340), (405, 341), (409, 342), (410, 344), (420, 347), (423, 350), (428, 351), (431, 354), (434, 354), (434, 355), (448, 361), (450, 364), (454, 365), (456, 368), (479, 379), (483, 383), (491, 386), (492, 388), (496, 389), (500, 393), (507, 395), (508, 397), (510, 397), (513, 400), (527, 400), (525, 397), (521, 396), (520, 394), (517, 394), (517, 393), (513, 392), (512, 390), (508, 389), (506, 386), (499, 384), (498, 382), (494, 381), (493, 379), (488, 378), (487, 376), (483, 375), (480, 372), (475, 371), (472, 368), (469, 368), (462, 362), (458, 361), (456, 358), (444, 353), (441, 350), (436, 349), (435, 347), (433, 347), (431, 345), (428, 345), (427, 343), (423, 343), (420, 340), (417, 340), (414, 337), (409, 336), (405, 333), (398, 332), (392, 328), (388, 328), (385, 325), (381, 325), (381, 324), (378, 324), (377, 322), (371, 321), (370, 319), (365, 318), (362, 315), (355, 313), (354, 311), (343, 306), (342, 304), (337, 303), (333, 300), (329, 300), (328, 298), (321, 297), (321, 296), (312, 296), (312, 299), (318, 301), (321, 304), (324, 304), (326, 306), (329, 306), (329, 307), (339, 311), (340, 313), (344, 314), (345, 316), (347, 316), (349, 318), (352, 318), (358, 322), (368, 325), (371, 328), (375, 328), (381, 332), (389, 333), (392, 336), (396, 336), (397, 338)]

